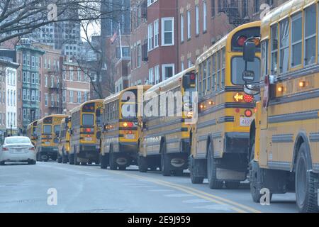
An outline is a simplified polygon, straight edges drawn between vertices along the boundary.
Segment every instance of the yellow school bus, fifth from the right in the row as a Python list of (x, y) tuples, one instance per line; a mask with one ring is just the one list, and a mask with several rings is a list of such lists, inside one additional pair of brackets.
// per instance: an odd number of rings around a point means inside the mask
[(69, 164), (99, 165), (101, 109), (103, 100), (86, 101), (71, 111)]

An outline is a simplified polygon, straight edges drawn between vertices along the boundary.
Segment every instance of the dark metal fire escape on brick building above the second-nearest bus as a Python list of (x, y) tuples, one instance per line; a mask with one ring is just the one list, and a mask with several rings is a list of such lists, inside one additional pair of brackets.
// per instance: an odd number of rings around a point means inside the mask
[(229, 23), (237, 27), (250, 22), (248, 4), (247, 0), (220, 0), (218, 1), (218, 12), (225, 13), (229, 18)]

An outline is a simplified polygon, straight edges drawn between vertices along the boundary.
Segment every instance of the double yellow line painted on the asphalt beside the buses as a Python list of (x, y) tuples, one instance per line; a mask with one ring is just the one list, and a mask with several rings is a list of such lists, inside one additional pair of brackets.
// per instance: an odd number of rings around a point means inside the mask
[[(188, 194), (193, 194), (194, 196), (198, 196), (201, 199), (206, 199), (208, 201), (213, 201), (216, 204), (230, 205), (230, 204), (225, 203), (225, 201), (222, 201), (223, 198), (221, 198), (219, 196), (212, 196), (211, 194), (208, 194), (209, 196), (206, 196), (199, 190), (198, 190), (198, 192), (200, 192), (200, 193), (194, 192), (194, 191), (190, 190), (191, 188), (188, 188), (188, 187), (180, 187), (179, 185), (170, 184), (169, 182), (164, 182), (162, 180), (152, 179), (150, 177), (141, 177), (141, 176), (138, 176), (138, 175), (123, 173), (123, 172), (116, 172), (116, 171), (110, 171), (110, 172), (113, 173), (113, 174), (116, 174), (116, 175), (123, 175), (123, 176), (126, 176), (126, 177), (133, 177), (133, 178), (136, 178), (136, 179), (145, 179), (145, 180), (147, 180), (149, 182), (154, 182), (155, 184), (163, 185), (163, 186), (166, 186), (166, 187), (172, 187), (172, 188), (177, 189), (179, 191), (186, 192)], [(216, 199), (216, 198), (218, 198), (218, 199)], [(235, 203), (235, 202), (233, 202), (233, 203)], [(233, 211), (238, 212), (238, 213), (247, 213), (247, 211), (245, 211), (245, 209), (240, 209), (240, 208), (236, 207), (234, 204), (231, 206), (231, 209)]]

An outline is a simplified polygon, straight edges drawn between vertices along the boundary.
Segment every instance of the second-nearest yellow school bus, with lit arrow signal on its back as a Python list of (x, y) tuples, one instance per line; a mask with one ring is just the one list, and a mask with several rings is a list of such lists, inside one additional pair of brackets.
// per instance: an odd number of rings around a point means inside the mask
[[(238, 26), (196, 60), (198, 121), (191, 130), (191, 182), (208, 178), (211, 189), (233, 189), (245, 180), (247, 146), (254, 98), (245, 94), (243, 45), (254, 40), (260, 49), (260, 21)], [(260, 60), (248, 67), (259, 74)]]

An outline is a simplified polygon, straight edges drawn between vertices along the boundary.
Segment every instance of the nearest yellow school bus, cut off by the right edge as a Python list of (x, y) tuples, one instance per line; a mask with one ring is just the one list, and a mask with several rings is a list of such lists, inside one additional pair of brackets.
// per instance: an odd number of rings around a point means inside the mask
[(262, 19), (261, 33), (261, 77), (255, 75), (261, 101), (250, 128), (252, 199), (259, 202), (264, 188), (269, 198), (295, 191), (299, 211), (318, 211), (318, 1), (286, 2)]

